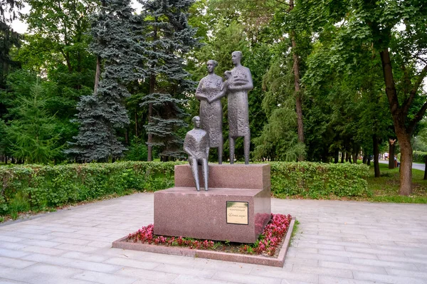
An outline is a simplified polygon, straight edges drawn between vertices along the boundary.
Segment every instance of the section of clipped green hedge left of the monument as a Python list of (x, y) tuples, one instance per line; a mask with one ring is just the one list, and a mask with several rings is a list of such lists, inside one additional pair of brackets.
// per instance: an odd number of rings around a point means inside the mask
[(157, 191), (174, 185), (179, 162), (120, 162), (63, 166), (0, 167), (0, 214), (46, 210), (130, 190)]

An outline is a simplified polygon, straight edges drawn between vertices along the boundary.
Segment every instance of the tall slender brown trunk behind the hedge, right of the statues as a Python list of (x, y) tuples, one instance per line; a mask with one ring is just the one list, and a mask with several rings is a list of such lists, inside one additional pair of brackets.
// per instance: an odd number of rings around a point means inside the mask
[[(289, 1), (289, 11), (294, 9), (294, 1)], [(298, 142), (304, 144), (304, 124), (302, 122), (302, 100), (301, 100), (301, 87), (300, 87), (300, 62), (297, 55), (297, 42), (295, 41), (295, 31), (290, 32), (290, 39), (292, 41), (293, 53), (293, 73), (294, 73), (294, 86), (295, 86), (295, 108), (297, 111), (297, 131)], [(304, 161), (304, 156), (300, 155), (298, 161)]]

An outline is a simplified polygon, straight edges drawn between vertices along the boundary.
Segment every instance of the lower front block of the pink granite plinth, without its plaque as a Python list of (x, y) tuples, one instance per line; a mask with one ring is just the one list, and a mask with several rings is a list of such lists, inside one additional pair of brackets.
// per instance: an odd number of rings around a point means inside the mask
[[(227, 223), (227, 201), (248, 202), (248, 224)], [(154, 233), (254, 243), (270, 221), (270, 191), (174, 187), (154, 193)]]

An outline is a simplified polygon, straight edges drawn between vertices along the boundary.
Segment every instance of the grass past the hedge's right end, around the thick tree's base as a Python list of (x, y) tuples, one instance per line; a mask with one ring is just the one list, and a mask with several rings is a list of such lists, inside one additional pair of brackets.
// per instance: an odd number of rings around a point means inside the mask
[(389, 169), (388, 164), (379, 164), (379, 172), (381, 177), (374, 177), (374, 167), (371, 166), (368, 189), (372, 196), (367, 201), (427, 204), (427, 180), (423, 179), (423, 171), (412, 169), (411, 196), (399, 195), (399, 168)]

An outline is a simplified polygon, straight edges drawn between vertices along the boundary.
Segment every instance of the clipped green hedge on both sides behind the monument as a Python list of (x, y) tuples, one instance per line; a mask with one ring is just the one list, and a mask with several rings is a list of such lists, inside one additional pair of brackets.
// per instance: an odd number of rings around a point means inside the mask
[[(117, 162), (0, 167), (0, 215), (46, 210), (131, 190), (174, 186), (174, 165), (186, 162)], [(355, 164), (270, 162), (276, 196), (364, 196), (368, 167)]]

